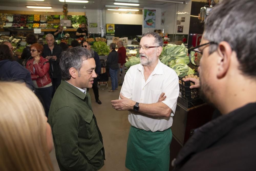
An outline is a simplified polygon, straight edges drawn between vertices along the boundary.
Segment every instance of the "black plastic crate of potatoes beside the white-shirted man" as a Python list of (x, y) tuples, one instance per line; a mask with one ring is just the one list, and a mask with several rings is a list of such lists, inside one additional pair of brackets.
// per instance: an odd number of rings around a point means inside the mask
[[(194, 75), (199, 75), (198, 73), (195, 73)], [(192, 81), (183, 81), (181, 77), (179, 77), (179, 80), (181, 81), (181, 84), (179, 83), (179, 91), (183, 98), (187, 99), (188, 101), (196, 100), (200, 97), (200, 90), (198, 88), (190, 89), (191, 86), (190, 83), (193, 83)]]

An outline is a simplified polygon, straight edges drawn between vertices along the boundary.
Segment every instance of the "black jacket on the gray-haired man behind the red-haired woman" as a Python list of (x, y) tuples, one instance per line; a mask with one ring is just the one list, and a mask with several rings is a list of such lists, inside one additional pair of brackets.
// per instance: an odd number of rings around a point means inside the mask
[(61, 47), (58, 45), (54, 45), (54, 48), (51, 52), (51, 49), (48, 47), (48, 45), (44, 45), (44, 51), (42, 56), (45, 58), (47, 56), (56, 56), (57, 60), (49, 59), (50, 62), (50, 76), (51, 78), (58, 78), (61, 77), (61, 71), (60, 71), (60, 54), (62, 52)]

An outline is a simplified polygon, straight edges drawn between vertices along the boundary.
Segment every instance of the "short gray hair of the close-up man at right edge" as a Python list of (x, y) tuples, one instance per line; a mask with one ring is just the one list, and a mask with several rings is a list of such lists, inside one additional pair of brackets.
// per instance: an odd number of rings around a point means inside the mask
[[(239, 69), (247, 76), (256, 76), (256, 3), (255, 0), (223, 1), (212, 9), (205, 21), (204, 38), (226, 41), (236, 52)], [(211, 45), (209, 54), (217, 50)]]

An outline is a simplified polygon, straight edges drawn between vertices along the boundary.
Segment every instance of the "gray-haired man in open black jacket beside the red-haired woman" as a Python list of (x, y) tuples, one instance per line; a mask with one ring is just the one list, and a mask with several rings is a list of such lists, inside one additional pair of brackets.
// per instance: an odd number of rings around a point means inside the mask
[(44, 45), (43, 57), (48, 59), (50, 62), (50, 77), (52, 80), (52, 97), (60, 85), (61, 82), (61, 72), (60, 72), (60, 54), (62, 52), (61, 47), (54, 45), (54, 36), (52, 34), (47, 34), (45, 36), (47, 45)]

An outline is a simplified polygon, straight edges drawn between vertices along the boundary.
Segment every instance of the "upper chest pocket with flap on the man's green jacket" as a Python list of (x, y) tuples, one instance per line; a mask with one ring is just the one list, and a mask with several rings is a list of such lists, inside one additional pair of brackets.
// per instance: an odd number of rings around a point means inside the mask
[(93, 117), (93, 112), (90, 109), (88, 109), (87, 114), (85, 115), (85, 117), (83, 119), (86, 122), (85, 126), (86, 126), (86, 132), (87, 132), (88, 139), (90, 139), (92, 137), (92, 135), (94, 134), (94, 132), (97, 130), (95, 121), (92, 117)]

